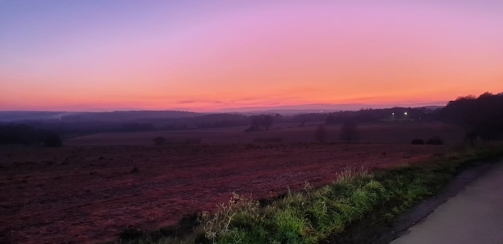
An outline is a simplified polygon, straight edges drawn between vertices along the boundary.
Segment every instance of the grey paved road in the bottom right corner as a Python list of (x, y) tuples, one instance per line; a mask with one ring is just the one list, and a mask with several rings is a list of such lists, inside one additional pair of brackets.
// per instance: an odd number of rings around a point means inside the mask
[(503, 244), (503, 163), (391, 244)]

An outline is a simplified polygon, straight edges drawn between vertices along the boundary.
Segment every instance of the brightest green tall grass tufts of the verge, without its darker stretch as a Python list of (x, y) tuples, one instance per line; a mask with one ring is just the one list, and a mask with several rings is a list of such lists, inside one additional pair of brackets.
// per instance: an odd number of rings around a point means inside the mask
[(257, 201), (234, 195), (215, 215), (203, 215), (203, 243), (318, 243), (361, 218), (387, 198), (367, 172), (353, 169), (328, 186), (289, 193), (260, 208)]

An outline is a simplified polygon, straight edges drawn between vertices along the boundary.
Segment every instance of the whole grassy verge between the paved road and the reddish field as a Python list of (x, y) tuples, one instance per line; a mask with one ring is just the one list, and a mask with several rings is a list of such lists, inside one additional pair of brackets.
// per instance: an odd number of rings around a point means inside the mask
[(320, 243), (353, 222), (379, 211), (393, 222), (426, 196), (437, 193), (463, 169), (503, 156), (500, 144), (457, 148), (417, 165), (367, 172), (347, 168), (329, 185), (288, 192), (266, 206), (233, 194), (214, 214), (204, 212), (200, 226), (182, 238), (144, 234), (121, 243)]

